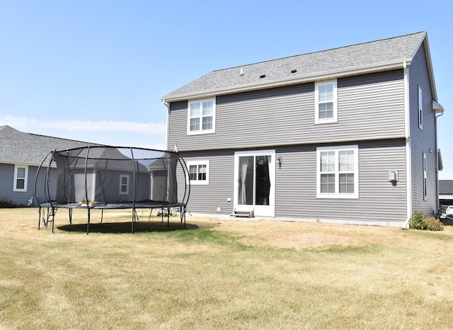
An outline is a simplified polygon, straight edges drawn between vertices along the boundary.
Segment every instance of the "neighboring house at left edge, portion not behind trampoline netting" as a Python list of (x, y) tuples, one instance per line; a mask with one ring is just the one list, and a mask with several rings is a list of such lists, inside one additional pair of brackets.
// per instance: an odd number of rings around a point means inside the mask
[[(20, 132), (7, 125), (0, 126), (0, 141), (0, 199), (12, 200), (16, 205), (36, 205), (36, 171), (49, 152), (94, 145)], [(40, 195), (43, 186), (38, 183)]]

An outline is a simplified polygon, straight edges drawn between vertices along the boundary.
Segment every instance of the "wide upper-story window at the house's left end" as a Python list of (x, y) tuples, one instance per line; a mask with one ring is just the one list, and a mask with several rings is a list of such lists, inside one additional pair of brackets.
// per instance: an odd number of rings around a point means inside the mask
[(215, 132), (215, 98), (189, 101), (188, 134)]

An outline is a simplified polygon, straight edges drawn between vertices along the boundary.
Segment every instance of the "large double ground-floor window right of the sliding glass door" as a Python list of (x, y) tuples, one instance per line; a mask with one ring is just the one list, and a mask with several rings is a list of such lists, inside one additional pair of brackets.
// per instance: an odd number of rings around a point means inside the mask
[(316, 197), (358, 198), (357, 145), (316, 149)]

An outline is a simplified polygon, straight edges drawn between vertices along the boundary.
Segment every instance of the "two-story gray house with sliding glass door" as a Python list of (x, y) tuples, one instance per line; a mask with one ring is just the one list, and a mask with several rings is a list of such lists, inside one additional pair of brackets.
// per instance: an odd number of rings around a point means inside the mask
[(190, 212), (403, 227), (437, 212), (424, 32), (213, 71), (162, 101)]

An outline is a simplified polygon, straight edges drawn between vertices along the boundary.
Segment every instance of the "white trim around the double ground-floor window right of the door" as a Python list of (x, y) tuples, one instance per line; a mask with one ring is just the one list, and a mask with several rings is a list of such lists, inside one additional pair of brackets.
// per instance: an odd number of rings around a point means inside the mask
[[(354, 193), (339, 193), (338, 152), (354, 152)], [(321, 152), (335, 152), (335, 193), (321, 193)], [(358, 145), (316, 148), (316, 198), (359, 198), (359, 147)]]

